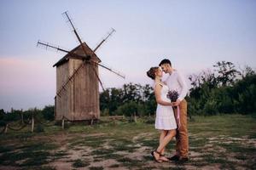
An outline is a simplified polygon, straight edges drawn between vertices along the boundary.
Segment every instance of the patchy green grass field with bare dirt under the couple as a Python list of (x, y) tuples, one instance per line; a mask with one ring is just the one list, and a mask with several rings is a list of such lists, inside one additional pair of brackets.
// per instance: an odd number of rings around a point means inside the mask
[[(256, 169), (256, 118), (194, 116), (189, 120), (189, 161), (156, 163), (154, 120), (44, 127), (43, 133), (0, 134), (0, 169)], [(175, 141), (167, 146), (172, 156)]]

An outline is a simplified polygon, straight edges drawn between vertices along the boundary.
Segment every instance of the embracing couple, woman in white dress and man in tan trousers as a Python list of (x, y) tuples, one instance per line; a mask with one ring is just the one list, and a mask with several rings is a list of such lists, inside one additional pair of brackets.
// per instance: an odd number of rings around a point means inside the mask
[[(169, 74), (165, 82), (161, 81), (164, 71)], [(188, 161), (189, 137), (187, 127), (187, 102), (184, 99), (188, 88), (179, 71), (172, 68), (169, 59), (163, 59), (159, 67), (151, 67), (148, 77), (154, 80), (154, 95), (157, 102), (154, 127), (160, 130), (160, 144), (151, 152), (154, 160), (162, 161)], [(177, 92), (177, 100), (168, 98), (168, 93)], [(176, 153), (168, 158), (165, 156), (166, 145), (176, 138)]]

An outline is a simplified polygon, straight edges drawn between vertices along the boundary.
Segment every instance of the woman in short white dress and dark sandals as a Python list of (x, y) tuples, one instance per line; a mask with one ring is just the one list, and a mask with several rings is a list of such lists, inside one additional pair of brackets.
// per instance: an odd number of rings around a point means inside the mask
[(151, 155), (157, 162), (169, 161), (168, 158), (164, 156), (164, 152), (166, 145), (176, 135), (177, 124), (172, 110), (172, 106), (174, 105), (171, 100), (166, 97), (169, 89), (166, 84), (160, 80), (163, 76), (160, 67), (151, 67), (147, 75), (154, 80), (154, 95), (158, 104), (154, 127), (160, 130), (160, 144), (156, 150), (151, 152)]

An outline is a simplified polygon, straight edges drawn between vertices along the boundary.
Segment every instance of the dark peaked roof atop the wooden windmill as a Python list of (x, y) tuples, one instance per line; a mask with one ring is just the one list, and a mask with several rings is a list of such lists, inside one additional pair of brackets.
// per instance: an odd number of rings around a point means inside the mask
[[(85, 52), (86, 54), (84, 54), (84, 50), (82, 48), (82, 45), (85, 48)], [(97, 62), (101, 62), (102, 60), (99, 59), (97, 57), (97, 55), (89, 48), (89, 46), (83, 42), (82, 44), (80, 44), (78, 47), (73, 48), (68, 54), (66, 54), (64, 57), (62, 57), (58, 62), (55, 63), (55, 65), (53, 65), (53, 67), (55, 66), (59, 66), (62, 65), (64, 63), (66, 63), (69, 59), (84, 59), (86, 56), (90, 56), (91, 59), (96, 59)]]

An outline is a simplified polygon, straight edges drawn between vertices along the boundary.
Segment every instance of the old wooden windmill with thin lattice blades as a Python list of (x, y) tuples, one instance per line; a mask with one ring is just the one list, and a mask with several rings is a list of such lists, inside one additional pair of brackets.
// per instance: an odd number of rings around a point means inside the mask
[[(72, 27), (79, 46), (68, 51), (46, 42), (38, 41), (38, 47), (51, 48), (66, 53), (58, 62), (56, 67), (56, 96), (55, 96), (55, 120), (86, 121), (95, 120), (100, 117), (99, 101), (99, 78), (98, 66), (113, 72), (119, 77), (125, 78), (118, 71), (100, 64), (101, 59), (96, 55), (96, 50), (106, 42), (115, 31), (112, 29), (108, 36), (103, 38), (94, 50), (81, 38), (67, 11), (63, 13), (67, 23)], [(102, 89), (104, 90), (103, 86)]]

